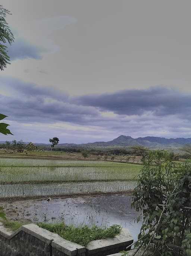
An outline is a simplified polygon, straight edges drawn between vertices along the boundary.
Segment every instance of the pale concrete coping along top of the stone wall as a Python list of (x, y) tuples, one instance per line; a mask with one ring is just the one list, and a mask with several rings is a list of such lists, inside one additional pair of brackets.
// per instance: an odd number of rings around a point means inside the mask
[[(73, 243), (71, 241), (65, 240), (58, 234), (50, 232), (46, 229), (40, 228), (35, 224), (27, 224), (21, 226), (15, 232), (11, 231), (9, 228), (5, 228), (3, 223), (0, 222), (0, 235), (10, 240), (15, 237), (20, 231), (24, 231), (29, 235), (32, 235), (46, 244), (51, 244), (53, 248), (58, 251), (65, 253), (68, 256), (75, 256), (78, 253), (88, 252), (88, 255), (95, 254), (96, 252), (106, 251), (108, 248), (117, 248), (124, 246), (127, 242), (129, 245), (133, 243), (133, 238), (128, 229), (122, 228), (120, 234), (116, 235), (114, 238), (104, 238), (100, 240), (94, 240), (88, 243), (86, 247), (80, 244)], [(114, 254), (115, 255), (115, 254)]]

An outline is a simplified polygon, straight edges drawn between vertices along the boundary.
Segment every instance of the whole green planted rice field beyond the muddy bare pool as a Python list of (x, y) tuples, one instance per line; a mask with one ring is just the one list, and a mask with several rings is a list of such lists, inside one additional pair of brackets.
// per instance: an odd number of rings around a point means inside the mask
[(142, 165), (109, 161), (0, 159), (0, 198), (132, 190)]

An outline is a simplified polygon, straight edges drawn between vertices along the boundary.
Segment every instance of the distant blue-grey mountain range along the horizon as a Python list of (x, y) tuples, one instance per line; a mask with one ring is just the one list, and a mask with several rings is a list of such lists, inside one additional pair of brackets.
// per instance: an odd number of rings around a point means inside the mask
[[(5, 143), (1, 141), (0, 143)], [(25, 142), (24, 142), (25, 143)], [(34, 143), (35, 145), (42, 147), (50, 147), (51, 144), (45, 143)], [(191, 144), (191, 138), (170, 138), (166, 139), (163, 137), (139, 137), (132, 138), (131, 136), (120, 135), (118, 138), (113, 139), (112, 141), (98, 141), (87, 144), (74, 144), (74, 143), (64, 143), (58, 144), (56, 147), (130, 147), (133, 145), (141, 145), (148, 148), (179, 148), (182, 145)]]

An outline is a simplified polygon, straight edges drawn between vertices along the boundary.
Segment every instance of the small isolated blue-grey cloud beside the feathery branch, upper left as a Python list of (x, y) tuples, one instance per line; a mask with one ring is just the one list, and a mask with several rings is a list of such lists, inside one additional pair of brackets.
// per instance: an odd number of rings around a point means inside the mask
[(40, 60), (43, 50), (24, 39), (15, 39), (12, 45), (8, 45), (7, 51), (11, 60), (24, 60), (26, 58)]

